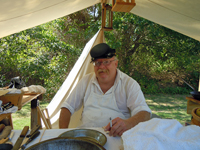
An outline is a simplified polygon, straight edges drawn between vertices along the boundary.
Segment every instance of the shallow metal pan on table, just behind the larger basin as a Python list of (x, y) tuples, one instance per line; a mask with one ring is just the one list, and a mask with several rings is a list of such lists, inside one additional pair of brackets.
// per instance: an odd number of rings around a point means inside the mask
[(92, 129), (69, 130), (60, 134), (59, 137), (68, 137), (68, 138), (73, 137), (73, 138), (83, 139), (86, 141), (88, 140), (100, 144), (102, 146), (104, 146), (107, 142), (107, 137), (103, 133)]

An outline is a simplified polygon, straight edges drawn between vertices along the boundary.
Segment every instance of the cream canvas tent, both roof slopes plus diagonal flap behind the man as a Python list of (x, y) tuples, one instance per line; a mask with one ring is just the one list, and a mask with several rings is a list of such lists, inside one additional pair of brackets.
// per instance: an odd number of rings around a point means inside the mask
[[(0, 38), (69, 15), (100, 2), (101, 0), (0, 0)], [(108, 2), (112, 3), (111, 0)], [(136, 0), (135, 2), (136, 6), (131, 10), (131, 13), (200, 41), (200, 1)], [(70, 72), (69, 76), (73, 80), (66, 79), (49, 104), (49, 114), (53, 123), (58, 119), (62, 101), (79, 79), (92, 71), (92, 67), (88, 65), (90, 60), (88, 53), (91, 47), (99, 42), (103, 42), (102, 31), (99, 31), (85, 46), (81, 57)]]

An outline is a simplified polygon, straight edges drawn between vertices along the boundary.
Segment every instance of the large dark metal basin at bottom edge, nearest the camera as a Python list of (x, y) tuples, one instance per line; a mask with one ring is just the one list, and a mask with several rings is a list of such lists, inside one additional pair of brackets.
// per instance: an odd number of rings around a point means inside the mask
[(81, 139), (54, 138), (37, 143), (26, 150), (106, 150), (99, 144)]

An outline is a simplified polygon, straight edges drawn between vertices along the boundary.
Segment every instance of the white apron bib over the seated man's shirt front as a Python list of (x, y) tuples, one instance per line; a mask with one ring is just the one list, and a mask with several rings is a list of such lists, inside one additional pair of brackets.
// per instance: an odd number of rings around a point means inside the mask
[[(104, 127), (106, 126), (110, 118), (111, 120), (117, 117), (122, 119), (128, 119), (118, 109), (114, 88), (109, 94), (99, 95), (91, 91), (88, 99), (85, 102), (82, 113), (82, 126), (81, 127)], [(92, 112), (92, 113), (91, 113)]]

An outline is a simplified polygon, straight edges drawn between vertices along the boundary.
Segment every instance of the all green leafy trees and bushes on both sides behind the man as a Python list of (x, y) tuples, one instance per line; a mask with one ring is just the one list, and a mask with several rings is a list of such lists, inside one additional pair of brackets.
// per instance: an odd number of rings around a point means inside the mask
[[(42, 85), (51, 99), (85, 44), (101, 28), (101, 5), (0, 39), (0, 86), (21, 76)], [(106, 43), (117, 51), (119, 69), (144, 93), (189, 93), (178, 77), (198, 87), (200, 43), (132, 13), (114, 12)]]

